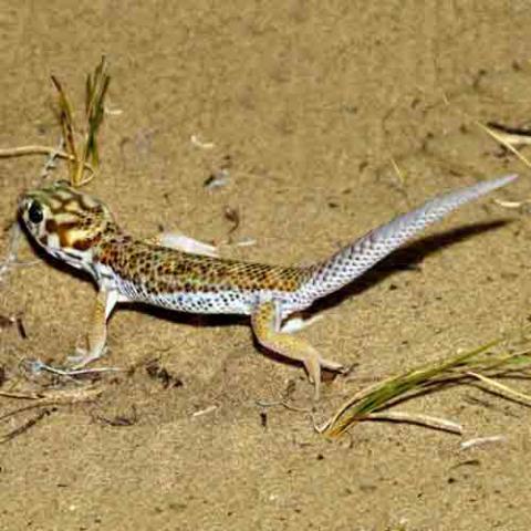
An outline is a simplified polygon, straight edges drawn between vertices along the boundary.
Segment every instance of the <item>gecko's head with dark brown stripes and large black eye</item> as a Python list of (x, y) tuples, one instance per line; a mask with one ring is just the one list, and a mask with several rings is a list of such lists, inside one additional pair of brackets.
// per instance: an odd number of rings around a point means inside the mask
[(106, 205), (65, 180), (24, 192), (19, 217), (50, 254), (82, 269), (91, 262), (102, 236), (116, 231)]

